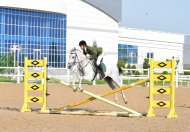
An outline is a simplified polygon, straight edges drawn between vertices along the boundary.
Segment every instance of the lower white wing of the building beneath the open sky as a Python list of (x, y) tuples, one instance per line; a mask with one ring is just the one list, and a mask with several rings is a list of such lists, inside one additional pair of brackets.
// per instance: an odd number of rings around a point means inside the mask
[(137, 47), (134, 56), (137, 56), (139, 67), (142, 67), (144, 58), (153, 57), (155, 60), (166, 61), (174, 57), (180, 60), (178, 68), (183, 68), (184, 35), (182, 34), (120, 28), (118, 43)]

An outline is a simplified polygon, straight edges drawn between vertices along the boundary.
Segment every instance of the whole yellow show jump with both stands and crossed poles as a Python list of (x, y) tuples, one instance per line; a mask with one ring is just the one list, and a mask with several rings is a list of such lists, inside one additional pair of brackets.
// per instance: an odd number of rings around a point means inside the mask
[[(150, 81), (150, 106), (147, 116), (152, 117), (155, 116), (153, 108), (170, 108), (170, 113), (167, 116), (168, 118), (177, 117), (175, 112), (175, 60), (172, 59), (172, 61), (166, 61), (166, 62), (156, 62), (153, 61), (153, 59), (150, 59), (150, 80), (144, 79), (139, 80), (135, 83), (132, 83), (130, 85), (122, 86), (119, 88), (116, 88), (114, 90), (110, 90), (108, 92), (102, 93), (101, 95), (96, 95), (93, 93), (90, 93), (86, 90), (80, 91), (83, 94), (91, 96), (88, 99), (80, 100), (75, 103), (69, 104), (65, 107), (61, 107), (52, 111), (49, 111), (47, 108), (47, 99), (46, 99), (46, 65), (47, 65), (47, 58), (44, 58), (44, 60), (27, 60), (25, 58), (25, 79), (24, 79), (24, 105), (21, 109), (21, 112), (30, 112), (30, 108), (27, 103), (43, 103), (43, 107), (41, 109), (41, 113), (49, 113), (49, 114), (69, 114), (69, 115), (112, 115), (112, 116), (138, 116), (141, 117), (143, 114), (139, 113), (137, 111), (134, 111), (130, 108), (127, 108), (125, 106), (119, 105), (115, 102), (112, 102), (110, 100), (107, 100), (103, 97), (107, 95), (111, 95), (113, 93), (119, 92), (121, 90), (126, 90), (128, 88), (131, 88), (132, 86), (139, 85), (144, 82)], [(27, 72), (28, 66), (42, 66), (44, 67), (43, 73), (32, 73)], [(172, 72), (170, 75), (164, 75), (164, 74), (156, 74), (154, 73), (154, 68), (171, 68)], [(42, 84), (28, 84), (28, 78), (43, 78), (44, 83)], [(58, 80), (58, 79), (57, 79)], [(156, 88), (154, 87), (154, 81), (170, 81), (172, 84), (171, 88)], [(68, 83), (60, 81), (61, 84), (65, 85), (67, 88), (72, 88)], [(43, 91), (44, 96), (43, 97), (28, 97), (27, 91), (28, 90), (36, 90)], [(153, 100), (154, 94), (168, 94), (171, 96), (171, 99), (169, 101), (163, 101), (163, 100)], [(93, 101), (95, 99), (101, 100), (107, 104), (110, 104), (112, 106), (115, 106), (117, 108), (120, 108), (121, 110), (127, 111), (127, 112), (87, 112), (87, 111), (65, 111), (67, 109), (73, 108), (75, 106)]]

